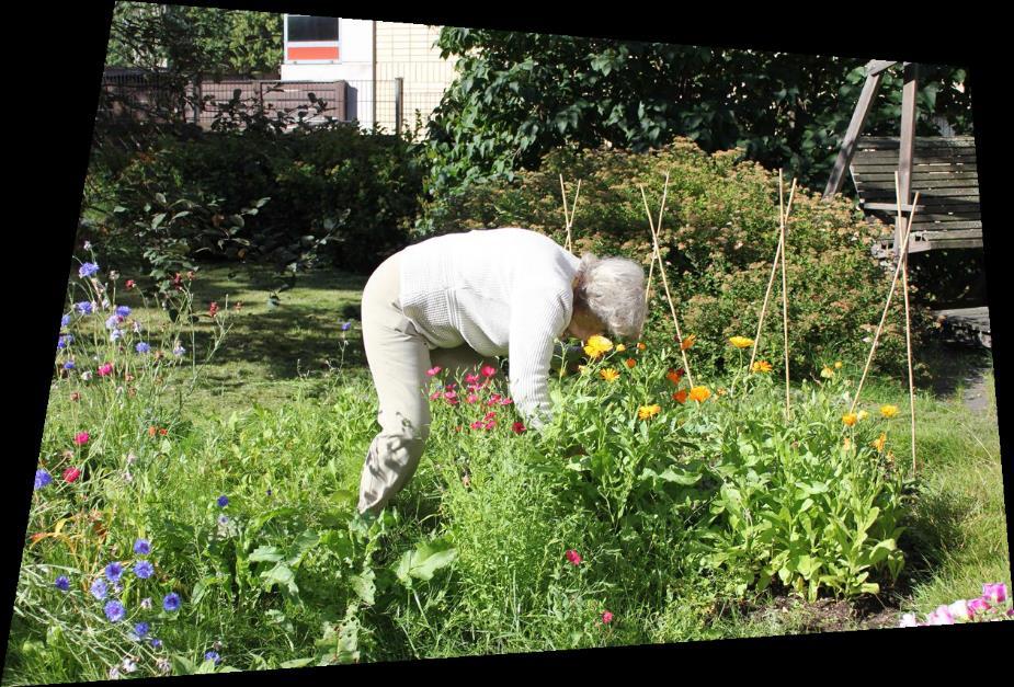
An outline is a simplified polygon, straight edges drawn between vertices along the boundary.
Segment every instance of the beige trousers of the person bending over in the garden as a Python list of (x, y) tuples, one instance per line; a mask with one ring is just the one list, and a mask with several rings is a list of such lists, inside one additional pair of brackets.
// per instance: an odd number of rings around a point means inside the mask
[(454, 378), (492, 365), (464, 345), (430, 351), (422, 335), (401, 311), (399, 261), (384, 261), (363, 289), (363, 346), (377, 390), (379, 434), (366, 453), (360, 480), (360, 513), (378, 514), (411, 479), (430, 435), (430, 377), (440, 366)]

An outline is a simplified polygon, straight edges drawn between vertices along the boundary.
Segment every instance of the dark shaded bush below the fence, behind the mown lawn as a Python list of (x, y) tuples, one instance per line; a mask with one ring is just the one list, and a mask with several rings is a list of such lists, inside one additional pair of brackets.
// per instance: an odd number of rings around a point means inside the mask
[(405, 139), (341, 124), (223, 128), (164, 138), (106, 174), (84, 233), (117, 261), (145, 247), (157, 280), (202, 256), (368, 272), (406, 243), (422, 169)]

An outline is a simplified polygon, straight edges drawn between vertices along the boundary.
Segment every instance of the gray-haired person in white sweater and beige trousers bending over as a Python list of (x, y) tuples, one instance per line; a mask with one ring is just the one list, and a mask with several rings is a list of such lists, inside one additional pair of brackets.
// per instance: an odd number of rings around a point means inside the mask
[(441, 236), (388, 257), (363, 290), (381, 430), (366, 454), (360, 514), (376, 516), (415, 472), (430, 433), (426, 370), (458, 376), (506, 355), (514, 403), (538, 428), (550, 419), (555, 340), (636, 337), (645, 311), (636, 262), (579, 260), (526, 229)]

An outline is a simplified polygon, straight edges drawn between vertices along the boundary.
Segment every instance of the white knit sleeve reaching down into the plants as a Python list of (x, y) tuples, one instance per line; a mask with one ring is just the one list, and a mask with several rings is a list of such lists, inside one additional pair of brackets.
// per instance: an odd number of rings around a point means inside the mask
[(569, 299), (563, 294), (526, 294), (511, 308), (511, 396), (527, 424), (540, 427), (551, 419), (549, 365), (554, 339), (570, 322)]

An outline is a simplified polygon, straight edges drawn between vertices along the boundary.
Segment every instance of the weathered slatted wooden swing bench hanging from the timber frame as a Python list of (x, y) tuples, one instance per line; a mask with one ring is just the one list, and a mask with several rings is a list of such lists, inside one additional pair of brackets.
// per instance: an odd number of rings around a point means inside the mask
[[(893, 226), (897, 217), (895, 170), (898, 138), (863, 137), (850, 164), (859, 205), (868, 215)], [(982, 248), (976, 141), (971, 136), (916, 138), (912, 160), (912, 195), (919, 206), (909, 252)], [(909, 208), (903, 208), (905, 216)], [(893, 236), (884, 237), (875, 253), (887, 254)]]

